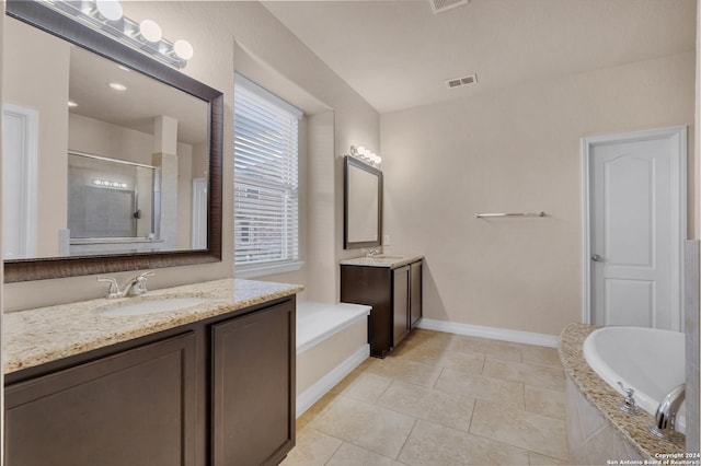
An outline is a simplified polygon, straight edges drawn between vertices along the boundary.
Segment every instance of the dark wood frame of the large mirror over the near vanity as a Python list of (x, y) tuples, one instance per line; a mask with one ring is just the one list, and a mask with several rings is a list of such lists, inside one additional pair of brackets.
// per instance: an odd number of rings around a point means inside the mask
[(38, 2), (8, 0), (5, 13), (207, 102), (209, 176), (207, 249), (7, 260), (4, 282), (221, 261), (223, 94)]

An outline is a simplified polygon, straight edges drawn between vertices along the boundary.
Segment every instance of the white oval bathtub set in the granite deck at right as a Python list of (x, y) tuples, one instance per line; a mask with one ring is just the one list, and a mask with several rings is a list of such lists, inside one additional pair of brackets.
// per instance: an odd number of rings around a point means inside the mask
[[(655, 415), (670, 389), (685, 382), (685, 335), (642, 327), (605, 327), (593, 331), (583, 346), (591, 369), (621, 395), (621, 382), (635, 391), (636, 405)], [(686, 406), (677, 417), (685, 432)]]

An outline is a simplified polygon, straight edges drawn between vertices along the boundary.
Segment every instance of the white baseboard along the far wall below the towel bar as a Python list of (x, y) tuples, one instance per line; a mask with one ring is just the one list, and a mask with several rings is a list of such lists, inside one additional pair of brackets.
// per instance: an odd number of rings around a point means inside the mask
[(498, 327), (483, 327), (481, 325), (459, 324), (456, 322), (435, 321), (433, 318), (422, 318), (418, 323), (418, 328), (467, 335), (470, 337), (491, 338), (493, 340), (513, 341), (515, 343), (536, 345), (539, 347), (558, 348), (560, 342), (560, 337), (556, 335), (509, 330)]

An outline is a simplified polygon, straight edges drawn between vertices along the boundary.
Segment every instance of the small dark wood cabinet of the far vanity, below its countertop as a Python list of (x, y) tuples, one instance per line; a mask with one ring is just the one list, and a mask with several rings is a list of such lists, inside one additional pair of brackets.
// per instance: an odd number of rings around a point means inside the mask
[(372, 306), (370, 354), (384, 358), (422, 317), (422, 260), (399, 267), (341, 265), (341, 301)]

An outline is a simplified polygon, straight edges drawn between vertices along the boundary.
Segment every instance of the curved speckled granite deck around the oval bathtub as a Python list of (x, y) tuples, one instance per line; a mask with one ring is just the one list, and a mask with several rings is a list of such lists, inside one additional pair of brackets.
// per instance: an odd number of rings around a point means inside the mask
[[(589, 366), (582, 346), (590, 333), (600, 328), (595, 325), (570, 324), (560, 335), (560, 360), (565, 374), (601, 416), (609, 421), (637, 452), (650, 459), (658, 461), (657, 453), (679, 453), (686, 451), (685, 443), (669, 442), (654, 436), (648, 427), (654, 424), (652, 415), (643, 411), (639, 416), (628, 415), (619, 409), (623, 395), (614, 391)], [(680, 456), (683, 458), (683, 456)]]

